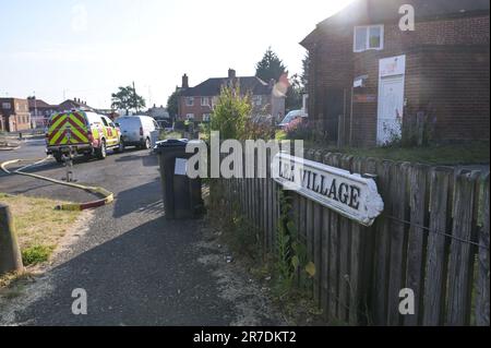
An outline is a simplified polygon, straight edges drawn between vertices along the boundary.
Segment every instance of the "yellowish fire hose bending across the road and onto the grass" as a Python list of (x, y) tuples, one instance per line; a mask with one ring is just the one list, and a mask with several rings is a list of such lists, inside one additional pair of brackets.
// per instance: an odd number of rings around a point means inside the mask
[(47, 160), (49, 160), (50, 158), (51, 157), (48, 156), (48, 157), (46, 157), (44, 159), (37, 160), (34, 164), (31, 164), (31, 165), (27, 165), (25, 167), (22, 167), (21, 169), (17, 169), (17, 170), (15, 170), (13, 172), (11, 172), (7, 168), (9, 166), (12, 166), (12, 165), (15, 165), (15, 164), (26, 163), (26, 161), (32, 161), (32, 160), (25, 160), (25, 159), (8, 160), (8, 161), (2, 163), (0, 165), (0, 168), (8, 175), (14, 173), (14, 175), (19, 175), (19, 176), (31, 177), (31, 178), (38, 179), (38, 180), (44, 180), (44, 181), (48, 181), (48, 182), (51, 182), (51, 183), (56, 183), (56, 184), (60, 184), (60, 185), (64, 185), (64, 187), (69, 187), (69, 188), (83, 190), (85, 192), (100, 194), (100, 195), (104, 196), (104, 199), (101, 199), (101, 200), (86, 202), (86, 203), (65, 203), (65, 204), (61, 204), (61, 205), (58, 205), (58, 206), (55, 207), (57, 211), (72, 211), (73, 212), (73, 211), (92, 209), (92, 208), (96, 208), (96, 207), (100, 207), (100, 206), (104, 206), (104, 205), (111, 204), (115, 201), (115, 194), (112, 192), (107, 191), (104, 188), (100, 188), (100, 187), (87, 187), (87, 185), (72, 183), (72, 182), (64, 182), (64, 181), (61, 181), (61, 180), (56, 180), (56, 179), (51, 179), (51, 178), (47, 178), (47, 177), (43, 177), (43, 176), (38, 176), (38, 175), (34, 175), (34, 173), (24, 171), (27, 168), (41, 165), (41, 164), (46, 163)]

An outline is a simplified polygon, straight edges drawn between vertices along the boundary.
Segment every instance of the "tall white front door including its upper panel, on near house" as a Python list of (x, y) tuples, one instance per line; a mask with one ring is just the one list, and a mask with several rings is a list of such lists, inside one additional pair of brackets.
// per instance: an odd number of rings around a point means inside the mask
[(378, 145), (400, 140), (403, 135), (405, 65), (405, 56), (380, 62)]

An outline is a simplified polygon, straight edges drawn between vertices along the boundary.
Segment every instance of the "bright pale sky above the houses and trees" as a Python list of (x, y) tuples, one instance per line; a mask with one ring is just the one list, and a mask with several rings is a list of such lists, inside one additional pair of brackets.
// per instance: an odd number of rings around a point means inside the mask
[(350, 1), (0, 0), (0, 97), (110, 108), (134, 81), (165, 106), (182, 74), (191, 86), (229, 68), (254, 75), (270, 46), (300, 73), (298, 43)]

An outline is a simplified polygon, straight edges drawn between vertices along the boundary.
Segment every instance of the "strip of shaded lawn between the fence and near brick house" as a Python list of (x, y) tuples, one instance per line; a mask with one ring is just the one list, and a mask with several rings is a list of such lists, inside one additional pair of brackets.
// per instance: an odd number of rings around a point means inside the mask
[(462, 144), (432, 145), (428, 147), (330, 147), (314, 142), (306, 142), (307, 148), (325, 148), (357, 157), (374, 157), (395, 161), (421, 163), (435, 166), (489, 164), (490, 143), (470, 142)]

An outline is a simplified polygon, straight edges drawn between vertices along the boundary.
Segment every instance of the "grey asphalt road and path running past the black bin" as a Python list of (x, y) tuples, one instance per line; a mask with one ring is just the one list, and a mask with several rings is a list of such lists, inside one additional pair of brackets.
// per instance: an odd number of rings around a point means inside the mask
[[(13, 158), (43, 158), (44, 142), (32, 141)], [(116, 195), (98, 208), (79, 240), (27, 289), (14, 317), (19, 325), (277, 325), (262, 289), (227, 264), (207, 239), (203, 221), (164, 218), (157, 159), (148, 152), (110, 154), (106, 160), (75, 164), (75, 179)], [(55, 161), (33, 169), (61, 179)], [(0, 173), (0, 192), (85, 202), (89, 193), (21, 176)], [(85, 289), (88, 315), (72, 314), (72, 291)], [(34, 292), (38, 291), (36, 296)], [(5, 314), (7, 316), (7, 314)]]

